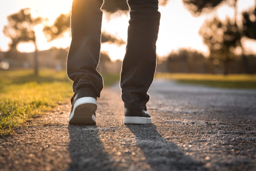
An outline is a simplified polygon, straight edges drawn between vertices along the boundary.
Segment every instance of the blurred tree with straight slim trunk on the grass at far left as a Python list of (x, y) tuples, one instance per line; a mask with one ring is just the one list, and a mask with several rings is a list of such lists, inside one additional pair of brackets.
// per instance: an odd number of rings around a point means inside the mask
[(4, 26), (3, 33), (12, 40), (9, 44), (9, 52), (16, 53), (17, 45), (20, 42), (32, 41), (35, 46), (34, 72), (35, 75), (38, 75), (38, 54), (34, 26), (41, 23), (43, 19), (41, 17), (33, 18), (31, 16), (30, 9), (24, 8), (17, 13), (9, 15), (7, 17), (7, 20), (8, 24)]

